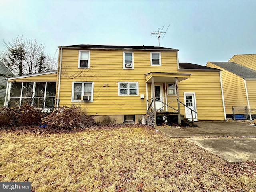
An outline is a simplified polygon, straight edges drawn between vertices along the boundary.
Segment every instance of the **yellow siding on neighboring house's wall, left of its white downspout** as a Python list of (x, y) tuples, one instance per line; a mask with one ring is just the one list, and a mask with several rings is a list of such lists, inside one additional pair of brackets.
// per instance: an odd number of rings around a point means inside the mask
[(223, 70), (221, 72), (221, 76), (226, 114), (233, 113), (232, 106), (247, 105), (243, 78), (227, 70), (224, 70), (223, 68), (216, 66), (210, 62), (208, 62), (206, 66)]

